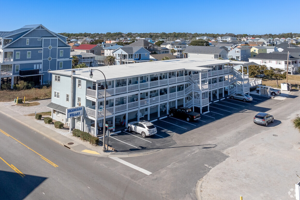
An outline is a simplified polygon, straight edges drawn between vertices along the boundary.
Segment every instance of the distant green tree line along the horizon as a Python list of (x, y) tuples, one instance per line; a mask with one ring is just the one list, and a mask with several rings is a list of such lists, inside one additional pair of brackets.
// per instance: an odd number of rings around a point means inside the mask
[(117, 32), (117, 33), (59, 33), (61, 35), (64, 35), (66, 37), (90, 37), (90, 38), (100, 38), (100, 39), (116, 39), (120, 37), (129, 37), (129, 38), (136, 38), (136, 37), (142, 37), (142, 38), (153, 38), (153, 39), (178, 39), (178, 38), (184, 38), (184, 39), (189, 39), (189, 38), (196, 38), (200, 36), (208, 36), (208, 37), (222, 37), (222, 36), (232, 36), (232, 37), (266, 37), (266, 38), (276, 38), (276, 37), (290, 37), (293, 38), (295, 37), (300, 37), (299, 33), (278, 33), (278, 34), (262, 34), (262, 35), (251, 35), (251, 34), (233, 34), (233, 33), (225, 33), (225, 34), (214, 34), (214, 33), (122, 33), (122, 32)]

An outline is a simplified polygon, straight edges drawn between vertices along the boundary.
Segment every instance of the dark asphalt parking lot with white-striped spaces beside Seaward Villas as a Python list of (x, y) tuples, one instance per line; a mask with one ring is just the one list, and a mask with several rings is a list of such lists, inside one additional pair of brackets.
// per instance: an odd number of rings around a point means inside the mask
[[(198, 121), (187, 122), (184, 119), (170, 116), (158, 119), (152, 122), (157, 127), (157, 134), (146, 138), (143, 138), (138, 133), (130, 133), (128, 130), (123, 129), (121, 133), (110, 136), (109, 146), (119, 152), (126, 153), (144, 153), (149, 150), (172, 148), (177, 145), (172, 138), (174, 134), (182, 135), (190, 130), (213, 123), (237, 112), (251, 111), (253, 112), (253, 116), (256, 112), (268, 112), (269, 108), (261, 107), (259, 104), (269, 100), (274, 101), (274, 103), (277, 101), (258, 95), (252, 95), (252, 97), (253, 100), (250, 102), (230, 98), (222, 98), (216, 102), (211, 102), (209, 104), (209, 112), (205, 113), (207, 106), (202, 109), (202, 113), (204, 114), (201, 114), (201, 119)], [(200, 109), (195, 107), (195, 112), (200, 112)]]

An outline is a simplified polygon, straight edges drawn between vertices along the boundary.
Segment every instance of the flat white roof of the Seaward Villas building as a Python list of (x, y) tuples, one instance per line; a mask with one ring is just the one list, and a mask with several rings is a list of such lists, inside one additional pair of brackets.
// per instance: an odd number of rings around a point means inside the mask
[[(241, 61), (229, 61), (229, 60), (216, 60), (216, 59), (200, 59), (200, 58), (184, 58), (184, 59), (174, 59), (166, 61), (153, 61), (153, 62), (141, 62), (134, 64), (122, 64), (122, 65), (111, 65), (103, 67), (90, 67), (90, 68), (79, 68), (79, 69), (68, 69), (68, 70), (55, 70), (51, 71), (53, 74), (61, 74), (66, 76), (71, 76), (71, 71), (75, 70), (74, 77), (79, 77), (83, 79), (88, 79), (94, 82), (99, 82), (104, 80), (112, 79), (123, 79), (133, 76), (149, 75), (153, 73), (164, 73), (177, 70), (192, 70), (192, 71), (205, 71), (209, 70), (207, 66), (219, 65), (219, 64), (247, 64), (247, 62)], [(93, 78), (90, 78), (90, 70), (97, 69), (93, 71)]]

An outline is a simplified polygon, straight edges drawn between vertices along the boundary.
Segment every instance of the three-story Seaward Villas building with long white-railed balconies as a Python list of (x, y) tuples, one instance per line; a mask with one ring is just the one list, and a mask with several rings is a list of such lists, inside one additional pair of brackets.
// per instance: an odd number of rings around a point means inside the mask
[[(167, 115), (171, 108), (205, 107), (209, 101), (233, 92), (249, 93), (249, 78), (235, 70), (246, 62), (186, 58), (143, 62), (90, 69), (52, 71), (52, 118), (72, 128), (97, 135), (103, 127), (104, 103), (106, 124), (121, 125), (128, 121), (150, 120)], [(106, 102), (104, 86), (107, 84)], [(66, 108), (84, 106), (82, 117), (66, 119)], [(97, 128), (98, 127), (98, 128)]]

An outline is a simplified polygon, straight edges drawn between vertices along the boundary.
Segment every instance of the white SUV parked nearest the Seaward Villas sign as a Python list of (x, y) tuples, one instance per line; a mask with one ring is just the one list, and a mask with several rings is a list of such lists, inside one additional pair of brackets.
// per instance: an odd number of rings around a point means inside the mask
[(149, 121), (134, 121), (128, 123), (128, 131), (139, 133), (145, 138), (146, 136), (152, 136), (157, 133), (156, 127)]

